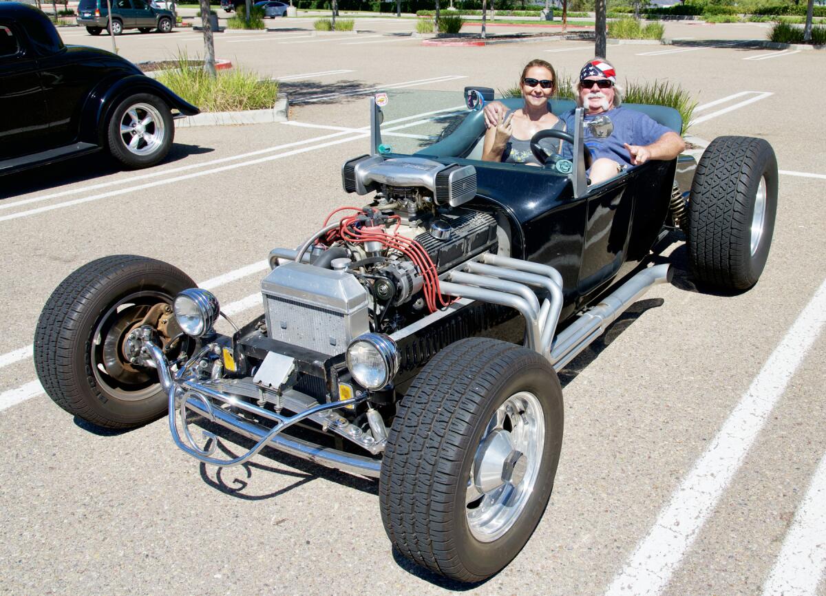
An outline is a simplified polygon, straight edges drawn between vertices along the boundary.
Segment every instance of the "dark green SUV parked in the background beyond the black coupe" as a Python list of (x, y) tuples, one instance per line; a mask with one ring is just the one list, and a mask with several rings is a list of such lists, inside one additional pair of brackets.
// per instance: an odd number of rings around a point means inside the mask
[[(124, 29), (137, 29), (149, 33), (157, 29), (169, 33), (175, 23), (172, 11), (154, 8), (149, 0), (111, 0), (112, 35), (121, 35)], [(109, 11), (106, 0), (80, 0), (78, 25), (85, 26), (92, 35), (100, 35), (109, 28)]]

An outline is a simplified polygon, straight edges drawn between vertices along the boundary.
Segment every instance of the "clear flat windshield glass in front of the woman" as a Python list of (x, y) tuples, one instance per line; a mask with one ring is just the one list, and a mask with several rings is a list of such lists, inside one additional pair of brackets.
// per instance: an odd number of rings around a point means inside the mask
[[(397, 89), (374, 97), (383, 116), (381, 146), (377, 147), (382, 154), (426, 154), (425, 149), (450, 135), (466, 116), (474, 114), (468, 110), (460, 91)], [(481, 138), (484, 123), (481, 130), (474, 127), (468, 134)]]

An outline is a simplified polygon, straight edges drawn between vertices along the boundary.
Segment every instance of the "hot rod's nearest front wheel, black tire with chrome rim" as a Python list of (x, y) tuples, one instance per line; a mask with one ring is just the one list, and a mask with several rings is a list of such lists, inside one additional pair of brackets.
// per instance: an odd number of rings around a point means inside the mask
[(398, 405), (379, 481), (387, 536), (440, 575), (491, 577), (542, 518), (562, 437), (562, 388), (543, 357), (495, 339), (451, 344)]

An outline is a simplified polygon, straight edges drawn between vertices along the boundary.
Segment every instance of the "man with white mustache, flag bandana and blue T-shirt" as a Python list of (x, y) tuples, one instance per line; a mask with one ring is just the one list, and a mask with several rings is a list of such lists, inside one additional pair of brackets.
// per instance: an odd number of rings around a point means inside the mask
[[(640, 165), (649, 159), (673, 159), (686, 149), (680, 135), (663, 126), (641, 111), (626, 110), (622, 104), (623, 88), (617, 84), (616, 72), (605, 59), (595, 58), (586, 62), (579, 73), (574, 88), (577, 106), (586, 108), (585, 120), (599, 114), (609, 116), (614, 123), (614, 133), (606, 139), (596, 139), (586, 127), (585, 144), (591, 149), (591, 168), (588, 177), (591, 184), (615, 177), (624, 169)], [(507, 111), (501, 102), (485, 106), (485, 124), (496, 126)], [(575, 125), (574, 111), (560, 115), (570, 132)], [(565, 151), (571, 149), (565, 144)]]

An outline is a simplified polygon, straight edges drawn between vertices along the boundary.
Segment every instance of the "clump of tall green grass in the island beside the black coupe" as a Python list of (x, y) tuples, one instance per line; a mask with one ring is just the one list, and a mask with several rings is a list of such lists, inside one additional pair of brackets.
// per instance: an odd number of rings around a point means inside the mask
[(158, 82), (201, 111), (266, 109), (278, 97), (278, 82), (260, 81), (258, 73), (235, 68), (211, 77), (202, 66), (193, 66), (186, 53), (179, 54), (177, 62), (177, 69), (158, 73)]

